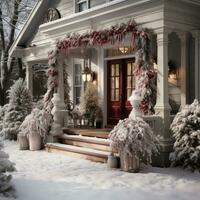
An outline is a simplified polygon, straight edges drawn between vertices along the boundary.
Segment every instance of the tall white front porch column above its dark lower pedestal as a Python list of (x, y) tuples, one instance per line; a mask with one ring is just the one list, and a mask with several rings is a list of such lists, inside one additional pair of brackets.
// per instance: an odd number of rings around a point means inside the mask
[(157, 34), (157, 101), (156, 114), (162, 119), (162, 132), (164, 138), (169, 138), (170, 105), (168, 95), (168, 30), (162, 28)]

